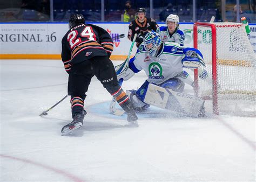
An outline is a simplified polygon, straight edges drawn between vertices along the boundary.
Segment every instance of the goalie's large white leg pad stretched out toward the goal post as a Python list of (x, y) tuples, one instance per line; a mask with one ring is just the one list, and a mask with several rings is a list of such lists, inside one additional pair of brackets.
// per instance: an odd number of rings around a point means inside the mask
[(149, 84), (144, 101), (153, 106), (198, 117), (204, 107), (204, 100), (185, 93)]

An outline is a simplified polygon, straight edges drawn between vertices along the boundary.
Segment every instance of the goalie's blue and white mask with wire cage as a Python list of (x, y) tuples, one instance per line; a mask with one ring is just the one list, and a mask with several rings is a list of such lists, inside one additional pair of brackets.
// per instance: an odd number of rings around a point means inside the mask
[(146, 34), (144, 37), (144, 47), (147, 52), (152, 57), (155, 57), (158, 53), (158, 48), (160, 47), (162, 41), (158, 33), (153, 30)]

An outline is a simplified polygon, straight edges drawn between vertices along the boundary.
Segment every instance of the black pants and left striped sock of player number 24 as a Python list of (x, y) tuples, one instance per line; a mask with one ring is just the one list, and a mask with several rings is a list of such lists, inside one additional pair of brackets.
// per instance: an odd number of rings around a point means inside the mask
[(69, 74), (68, 94), (71, 95), (73, 115), (84, 109), (85, 93), (94, 75), (110, 94), (120, 88), (112, 61), (107, 56), (93, 57), (90, 60), (72, 65)]

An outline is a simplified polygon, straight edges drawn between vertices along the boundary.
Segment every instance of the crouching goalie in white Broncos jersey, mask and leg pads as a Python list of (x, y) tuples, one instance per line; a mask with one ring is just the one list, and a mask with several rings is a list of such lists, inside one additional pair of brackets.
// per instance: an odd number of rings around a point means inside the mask
[(117, 77), (118, 80), (128, 80), (142, 70), (147, 74), (147, 80), (138, 90), (127, 90), (135, 110), (144, 111), (153, 104), (197, 117), (205, 114), (204, 100), (182, 93), (185, 84), (180, 74), (183, 74), (183, 67), (197, 68), (201, 65), (205, 66), (203, 55), (196, 48), (163, 43), (159, 34), (151, 31), (130, 59), (129, 68)]

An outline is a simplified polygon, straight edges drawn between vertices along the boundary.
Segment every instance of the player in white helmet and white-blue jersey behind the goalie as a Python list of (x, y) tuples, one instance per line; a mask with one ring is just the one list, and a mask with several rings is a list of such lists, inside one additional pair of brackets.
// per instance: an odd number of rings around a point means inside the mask
[[(159, 33), (161, 40), (164, 42), (178, 43), (181, 46), (184, 46), (185, 35), (184, 32), (179, 29), (179, 16), (171, 14), (166, 18), (165, 23), (167, 26), (160, 26), (157, 29), (157, 33)], [(183, 76), (185, 83), (194, 88), (194, 81), (185, 70), (180, 76)], [(204, 68), (198, 68), (198, 76), (200, 79), (212, 85), (212, 79), (208, 76), (208, 73)]]

